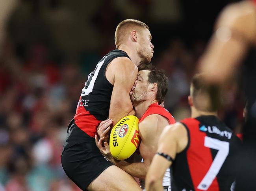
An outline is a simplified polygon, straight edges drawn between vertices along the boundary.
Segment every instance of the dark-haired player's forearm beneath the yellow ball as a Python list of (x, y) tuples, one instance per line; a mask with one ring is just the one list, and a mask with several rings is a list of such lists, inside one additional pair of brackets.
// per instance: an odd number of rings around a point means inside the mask
[(126, 173), (137, 178), (145, 179), (148, 167), (143, 162), (128, 163), (124, 160), (116, 163), (116, 166), (126, 171)]

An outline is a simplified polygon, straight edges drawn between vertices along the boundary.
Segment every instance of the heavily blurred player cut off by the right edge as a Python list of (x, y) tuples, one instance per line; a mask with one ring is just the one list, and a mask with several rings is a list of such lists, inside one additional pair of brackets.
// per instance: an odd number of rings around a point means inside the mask
[(224, 9), (200, 69), (207, 74), (206, 80), (223, 85), (238, 70), (247, 52), (250, 61), (244, 64), (242, 87), (248, 99), (248, 113), (243, 127), (237, 190), (256, 190), (256, 0), (241, 1)]

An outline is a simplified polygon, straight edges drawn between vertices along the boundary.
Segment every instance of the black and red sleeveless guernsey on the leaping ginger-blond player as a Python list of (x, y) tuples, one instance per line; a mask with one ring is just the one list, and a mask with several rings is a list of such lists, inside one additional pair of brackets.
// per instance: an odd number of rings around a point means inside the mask
[(94, 138), (100, 122), (108, 118), (113, 85), (108, 82), (105, 74), (108, 64), (117, 57), (129, 58), (124, 51), (113, 50), (89, 74), (76, 107), (76, 115), (68, 127), (64, 150), (84, 142), (88, 135)]

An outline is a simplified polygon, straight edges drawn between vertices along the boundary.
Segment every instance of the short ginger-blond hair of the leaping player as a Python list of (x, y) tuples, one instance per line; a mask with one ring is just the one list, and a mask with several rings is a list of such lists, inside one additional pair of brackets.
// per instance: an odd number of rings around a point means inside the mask
[(117, 48), (124, 42), (127, 34), (129, 34), (132, 30), (138, 30), (139, 28), (149, 30), (148, 25), (135, 19), (126, 19), (119, 23), (115, 29), (115, 45)]

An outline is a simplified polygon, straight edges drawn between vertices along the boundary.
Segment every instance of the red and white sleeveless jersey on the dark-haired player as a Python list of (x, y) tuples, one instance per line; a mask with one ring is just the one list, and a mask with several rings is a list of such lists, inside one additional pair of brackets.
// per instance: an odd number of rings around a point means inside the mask
[[(143, 116), (139, 119), (139, 123), (142, 122), (147, 116), (158, 114), (167, 118), (169, 124), (174, 124), (176, 121), (174, 117), (167, 111), (167, 109), (163, 108), (162, 106), (158, 105), (158, 103), (151, 104), (147, 111), (143, 114)], [(142, 159), (143, 162), (143, 159)], [(140, 180), (141, 188), (145, 188), (145, 181)], [(170, 169), (168, 168), (163, 176), (163, 186), (170, 186), (171, 185), (171, 177), (170, 177)]]

